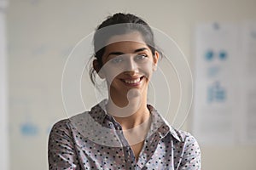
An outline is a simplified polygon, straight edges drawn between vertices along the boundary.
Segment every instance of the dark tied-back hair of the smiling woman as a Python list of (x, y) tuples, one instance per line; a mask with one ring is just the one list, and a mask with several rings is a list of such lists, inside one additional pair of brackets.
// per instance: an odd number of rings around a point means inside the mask
[[(102, 31), (110, 26), (117, 26), (114, 28), (114, 31)], [(119, 26), (120, 25), (120, 26)], [(109, 38), (115, 35), (122, 35), (129, 33), (131, 31), (139, 31), (143, 37), (144, 42), (150, 48), (152, 54), (154, 55), (154, 34), (150, 26), (137, 17), (134, 14), (123, 14), (117, 13), (112, 16), (108, 16), (107, 20), (104, 20), (100, 26), (97, 26), (96, 32), (93, 37), (94, 45), (94, 56), (93, 58), (97, 60), (99, 67), (102, 67), (102, 55), (105, 52), (105, 46)], [(90, 68), (90, 80), (95, 84), (96, 72), (93, 67)]]

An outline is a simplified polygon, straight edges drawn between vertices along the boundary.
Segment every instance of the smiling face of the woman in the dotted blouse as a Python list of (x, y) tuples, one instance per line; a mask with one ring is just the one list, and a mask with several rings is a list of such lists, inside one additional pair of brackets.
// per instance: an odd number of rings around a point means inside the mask
[(122, 99), (132, 88), (147, 98), (148, 82), (159, 54), (152, 54), (137, 31), (113, 36), (108, 44), (102, 56), (101, 75), (108, 82), (111, 98)]

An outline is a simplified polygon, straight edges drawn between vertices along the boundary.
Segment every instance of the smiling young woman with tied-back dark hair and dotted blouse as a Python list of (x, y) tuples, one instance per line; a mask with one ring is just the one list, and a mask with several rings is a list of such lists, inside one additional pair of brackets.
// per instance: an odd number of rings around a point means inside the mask
[(55, 123), (49, 169), (201, 169), (195, 138), (147, 104), (160, 58), (148, 24), (133, 14), (113, 14), (96, 29), (94, 48), (90, 77), (106, 80), (108, 99)]

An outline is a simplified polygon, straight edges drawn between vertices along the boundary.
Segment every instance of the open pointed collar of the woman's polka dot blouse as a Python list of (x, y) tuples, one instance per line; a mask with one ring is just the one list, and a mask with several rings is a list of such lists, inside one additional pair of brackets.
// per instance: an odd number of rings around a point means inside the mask
[[(90, 111), (90, 116), (92, 116), (92, 118), (94, 118), (94, 120), (100, 124), (102, 124), (105, 119), (112, 122), (114, 121), (113, 116), (109, 115), (106, 110), (107, 102), (107, 99), (103, 99), (99, 104), (92, 107)], [(164, 138), (168, 133), (171, 133), (173, 138), (181, 141), (176, 130), (168, 122), (166, 122), (160, 113), (156, 111), (152, 105), (147, 106), (152, 116), (152, 123), (148, 135), (159, 133), (160, 138)]]

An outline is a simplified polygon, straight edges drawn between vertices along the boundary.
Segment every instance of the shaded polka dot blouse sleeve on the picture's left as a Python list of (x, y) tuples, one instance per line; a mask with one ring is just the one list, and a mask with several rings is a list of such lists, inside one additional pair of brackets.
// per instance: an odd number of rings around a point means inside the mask
[(67, 121), (55, 123), (49, 133), (48, 163), (49, 170), (80, 169)]

